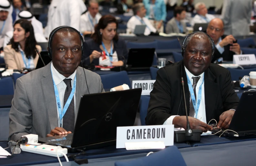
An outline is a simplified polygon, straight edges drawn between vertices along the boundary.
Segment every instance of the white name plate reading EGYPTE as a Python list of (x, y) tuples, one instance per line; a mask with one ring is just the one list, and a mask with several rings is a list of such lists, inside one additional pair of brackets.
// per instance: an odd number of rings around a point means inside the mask
[(233, 55), (233, 63), (239, 65), (256, 64), (254, 54)]

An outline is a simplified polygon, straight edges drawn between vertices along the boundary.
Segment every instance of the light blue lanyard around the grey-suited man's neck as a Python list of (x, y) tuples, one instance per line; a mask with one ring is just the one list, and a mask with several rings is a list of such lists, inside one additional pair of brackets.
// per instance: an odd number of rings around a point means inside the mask
[[(51, 69), (51, 73), (52, 73), (52, 69)], [(53, 75), (52, 75), (52, 77), (53, 77)], [(59, 92), (58, 92), (57, 86), (56, 86), (53, 78), (52, 78), (52, 80), (53, 80), (54, 93), (55, 93), (55, 97), (56, 97), (56, 101), (57, 101), (56, 104), (58, 107), (58, 112), (59, 112), (59, 117), (60, 117), (60, 127), (61, 127), (61, 120), (62, 120), (63, 116), (65, 115), (67, 108), (68, 108), (68, 106), (74, 96), (75, 90), (76, 90), (77, 75), (75, 76), (72, 91), (67, 99), (65, 106), (63, 107), (63, 110), (61, 110), (60, 98), (59, 98)]]

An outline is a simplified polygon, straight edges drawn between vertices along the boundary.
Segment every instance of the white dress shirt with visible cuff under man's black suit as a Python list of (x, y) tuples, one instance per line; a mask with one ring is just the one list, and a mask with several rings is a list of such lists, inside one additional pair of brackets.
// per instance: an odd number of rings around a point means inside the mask
[[(193, 79), (192, 77), (198, 77), (198, 76), (194, 76), (192, 73), (189, 72), (189, 70), (185, 67), (185, 71), (190, 79), (190, 82), (191, 84), (193, 85)], [(196, 86), (196, 96), (198, 96), (198, 91), (199, 91), (199, 87), (200, 85), (202, 84), (203, 82), (203, 76), (204, 76), (204, 73), (200, 74), (200, 79), (199, 81), (197, 82), (197, 86)], [(184, 79), (184, 80), (187, 80), (187, 79)], [(199, 106), (199, 109), (198, 109), (198, 114), (197, 114), (197, 117), (196, 117), (196, 113), (194, 115), (194, 118), (197, 118), (198, 120), (206, 123), (206, 113), (205, 113), (205, 99), (204, 99), (204, 83), (202, 84), (202, 97), (201, 97), (201, 103), (200, 103), (200, 106)], [(187, 105), (187, 108), (189, 109), (189, 105)], [(167, 125), (167, 124), (172, 124), (172, 121), (173, 121), (173, 118), (176, 117), (176, 116), (179, 116), (179, 115), (173, 115), (173, 116), (170, 116), (165, 122), (164, 124)]]

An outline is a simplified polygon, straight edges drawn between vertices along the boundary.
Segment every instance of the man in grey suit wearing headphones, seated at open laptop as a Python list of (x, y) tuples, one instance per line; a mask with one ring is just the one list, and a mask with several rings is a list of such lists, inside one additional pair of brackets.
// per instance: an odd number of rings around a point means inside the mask
[(9, 113), (11, 140), (27, 134), (46, 137), (73, 132), (81, 96), (104, 92), (98, 74), (84, 73), (78, 67), (82, 57), (80, 33), (71, 27), (53, 32), (48, 47), (52, 62), (17, 79)]

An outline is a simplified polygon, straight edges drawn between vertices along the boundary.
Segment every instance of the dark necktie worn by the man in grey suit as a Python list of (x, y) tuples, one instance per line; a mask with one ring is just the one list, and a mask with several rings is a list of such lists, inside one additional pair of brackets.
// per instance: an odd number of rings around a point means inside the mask
[[(71, 86), (71, 79), (64, 79), (64, 83), (66, 83), (67, 88), (65, 90), (64, 94), (64, 106), (67, 102), (67, 99), (72, 91), (72, 86)], [(63, 107), (64, 107), (63, 106)], [(74, 132), (74, 126), (75, 126), (75, 102), (74, 102), (74, 96), (67, 108), (66, 113), (63, 116), (63, 128), (67, 130), (67, 132)]]

